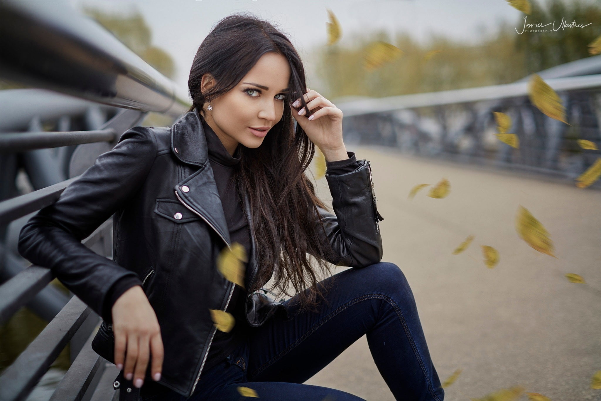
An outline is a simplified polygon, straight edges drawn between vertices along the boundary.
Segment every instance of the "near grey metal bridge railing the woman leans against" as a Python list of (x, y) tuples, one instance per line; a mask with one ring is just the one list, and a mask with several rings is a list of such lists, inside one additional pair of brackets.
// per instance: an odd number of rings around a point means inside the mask
[[(0, 400), (25, 400), (67, 344), (70, 367), (50, 400), (115, 398), (118, 370), (91, 349), (100, 317), (49, 286), (52, 271), (31, 266), (16, 243), (25, 222), (123, 132), (148, 112), (175, 120), (189, 102), (112, 34), (56, 2), (0, 2), (0, 77), (40, 88), (0, 91), (0, 325), (23, 306), (49, 321), (0, 375)], [(58, 129), (44, 129), (49, 120)], [(82, 243), (111, 258), (112, 218)]]

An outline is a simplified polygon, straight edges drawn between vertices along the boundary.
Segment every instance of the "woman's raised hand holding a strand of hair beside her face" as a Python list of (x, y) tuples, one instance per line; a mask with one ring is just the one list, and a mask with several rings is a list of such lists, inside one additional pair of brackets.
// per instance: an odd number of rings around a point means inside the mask
[[(307, 118), (307, 110), (301, 107), (301, 100), (294, 99), (290, 104), (292, 116), (301, 128), (307, 133), (311, 142), (313, 142), (320, 150), (338, 150), (344, 147), (342, 140), (342, 111), (338, 109), (334, 103), (317, 93), (309, 90), (303, 95), (307, 108), (313, 113)], [(296, 108), (294, 102), (297, 102)], [(299, 115), (299, 111), (301, 115)]]

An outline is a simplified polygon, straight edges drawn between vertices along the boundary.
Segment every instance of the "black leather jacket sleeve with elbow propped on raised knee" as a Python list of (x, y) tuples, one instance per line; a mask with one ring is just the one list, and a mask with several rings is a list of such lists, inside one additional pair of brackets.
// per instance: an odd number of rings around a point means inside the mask
[[(350, 157), (353, 158), (354, 154)], [(334, 260), (327, 262), (364, 268), (382, 260), (378, 221), (383, 218), (376, 210), (370, 166), (365, 160), (359, 160), (357, 164), (356, 170), (349, 173), (326, 173), (334, 214), (319, 206), (317, 210), (336, 255)]]

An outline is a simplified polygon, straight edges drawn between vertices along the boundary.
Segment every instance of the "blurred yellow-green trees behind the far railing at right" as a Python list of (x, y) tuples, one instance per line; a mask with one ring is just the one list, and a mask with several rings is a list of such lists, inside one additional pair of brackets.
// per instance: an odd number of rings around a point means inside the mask
[[(507, 7), (510, 7), (507, 5)], [(394, 39), (385, 31), (348, 34), (332, 46), (316, 50), (317, 78), (325, 83), (323, 94), (335, 99), (346, 96), (384, 97), (402, 94), (472, 88), (508, 84), (532, 72), (590, 57), (587, 44), (599, 32), (596, 21), (601, 20), (601, 3), (574, 0), (564, 4), (550, 0), (548, 11), (532, 1), (528, 23), (552, 22), (555, 27), (563, 16), (567, 22), (588, 25), (585, 28), (566, 28), (557, 32), (524, 32), (520, 13), (516, 22), (499, 22), (490, 35), (483, 35), (476, 44), (450, 40), (445, 35), (432, 34), (425, 44), (418, 43), (407, 33)], [(403, 55), (373, 72), (362, 67), (363, 54), (375, 40), (394, 44)], [(424, 56), (439, 50), (429, 60)]]

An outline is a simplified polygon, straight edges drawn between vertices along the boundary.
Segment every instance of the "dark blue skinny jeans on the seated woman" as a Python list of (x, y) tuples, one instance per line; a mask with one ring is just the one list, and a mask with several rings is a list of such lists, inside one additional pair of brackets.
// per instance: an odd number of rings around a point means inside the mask
[[(227, 360), (203, 372), (192, 397), (163, 386), (145, 394), (144, 401), (240, 400), (238, 387), (252, 388), (261, 400), (358, 401), (353, 394), (302, 384), (367, 334), (371, 355), (397, 400), (444, 399), (436, 369), (407, 280), (397, 265), (379, 262), (347, 269), (335, 280), (327, 303), (319, 297), (319, 313), (301, 312), (299, 305), (282, 302), (284, 313), (251, 328), (246, 340)], [(361, 365), (355, 367), (361, 370)], [(329, 397), (328, 397), (329, 396)], [(326, 398), (328, 397), (328, 398)], [(246, 398), (245, 398), (246, 399)]]

